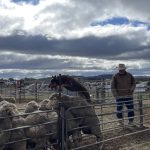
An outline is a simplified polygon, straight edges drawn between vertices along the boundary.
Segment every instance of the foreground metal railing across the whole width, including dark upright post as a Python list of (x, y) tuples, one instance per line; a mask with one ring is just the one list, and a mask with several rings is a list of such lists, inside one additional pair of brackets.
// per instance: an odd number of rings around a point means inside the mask
[[(49, 91), (48, 91), (49, 92)], [(62, 92), (61, 90), (59, 91), (60, 93)], [(77, 149), (83, 149), (83, 148), (91, 148), (93, 146), (99, 145), (99, 144), (104, 144), (108, 143), (110, 141), (113, 141), (115, 139), (120, 139), (123, 137), (129, 137), (129, 136), (133, 136), (133, 135), (137, 135), (140, 133), (146, 133), (149, 132), (150, 128), (150, 113), (149, 113), (149, 108), (150, 108), (150, 99), (149, 98), (149, 93), (147, 92), (137, 92), (134, 94), (134, 112), (135, 112), (135, 116), (134, 116), (134, 120), (135, 120), (135, 128), (131, 127), (127, 124), (128, 122), (128, 117), (127, 117), (127, 112), (129, 110), (127, 109), (123, 109), (123, 114), (124, 114), (124, 123), (126, 124), (124, 127), (118, 126), (118, 119), (116, 118), (116, 101), (114, 100), (114, 98), (112, 97), (112, 95), (109, 93), (105, 93), (105, 97), (103, 97), (103, 101), (102, 99), (98, 99), (95, 98), (96, 102), (100, 102), (100, 103), (94, 103), (94, 104), (87, 104), (85, 106), (76, 106), (76, 107), (70, 107), (69, 109), (65, 109), (63, 103), (59, 103), (59, 113), (58, 113), (58, 135), (57, 135), (57, 142), (56, 143), (48, 143), (46, 147), (49, 147), (49, 145), (57, 145), (58, 149), (60, 150), (67, 150), (67, 149), (73, 149), (73, 150), (77, 150)], [(47, 94), (47, 97), (49, 97), (50, 94)], [(98, 95), (98, 94), (97, 94)], [(25, 96), (26, 97), (26, 96)], [(36, 99), (37, 100), (37, 99)], [(60, 94), (60, 101), (61, 101), (61, 94)], [(78, 103), (81, 102), (81, 100), (76, 99), (76, 101), (78, 101)], [(19, 101), (21, 102), (21, 101)], [(89, 115), (83, 115), (83, 116), (73, 116), (72, 119), (68, 119), (66, 118), (68, 113), (72, 113), (72, 111), (83, 111), (84, 109), (94, 109), (95, 111), (95, 115), (94, 116), (89, 116)], [(23, 109), (23, 108), (20, 108)], [(54, 110), (48, 110), (48, 111), (43, 111), (43, 112), (33, 112), (33, 113), (26, 113), (26, 114), (20, 114), (20, 115), (15, 115), (15, 116), (10, 116), (10, 117), (0, 117), (0, 119), (6, 119), (6, 118), (14, 118), (14, 117), (23, 117), (24, 115), (31, 115), (31, 114), (36, 114), (36, 113), (49, 113), (49, 112), (53, 112)], [(99, 123), (94, 124), (94, 126), (100, 126), (100, 130), (101, 133), (103, 135), (103, 139), (101, 141), (93, 141), (92, 143), (89, 140), (89, 137), (91, 137), (91, 135), (85, 135), (83, 134), (81, 131), (85, 128), (89, 128), (88, 124), (84, 124), (81, 126), (77, 126), (75, 128), (72, 128), (71, 130), (68, 129), (68, 124), (71, 121), (74, 122), (78, 122), (79, 120), (83, 121), (82, 119), (85, 118), (92, 118), (92, 117), (97, 117), (99, 119)], [(32, 128), (35, 126), (43, 126), (43, 125), (49, 125), (52, 124), (54, 122), (44, 122), (41, 124), (36, 124), (36, 125), (26, 125), (26, 126), (20, 126), (20, 127), (16, 127), (16, 128), (10, 128), (10, 129), (5, 129), (5, 130), (1, 130), (0, 131), (0, 135), (2, 133), (5, 132), (9, 132), (11, 133), (12, 131), (16, 131), (16, 130), (25, 130), (28, 128)], [(56, 122), (55, 122), (56, 123)], [(145, 128), (147, 127), (147, 128)], [(108, 134), (110, 133), (114, 133), (116, 131), (122, 131), (122, 130), (126, 130), (126, 129), (130, 129), (130, 133), (121, 133), (121, 134), (117, 134), (117, 135), (113, 135), (111, 134), (111, 136)], [(136, 129), (136, 130), (134, 130)], [(84, 139), (87, 139), (87, 141), (85, 142), (84, 145), (79, 145), (77, 147), (69, 147), (69, 142), (70, 142), (70, 135), (72, 136), (72, 134), (74, 131), (79, 130), (81, 132), (82, 135), (82, 140), (84, 141)], [(52, 132), (52, 133), (46, 133), (45, 135), (42, 135), (41, 138), (43, 137), (49, 137), (53, 134), (56, 134), (56, 132)], [(74, 138), (75, 140), (78, 140), (78, 137)], [(22, 141), (27, 141), (27, 140), (32, 140), (32, 138), (30, 137), (26, 137), (23, 139), (18, 139), (18, 140), (13, 140), (13, 141), (8, 141), (6, 143), (4, 143), (4, 145), (10, 145), (10, 144), (14, 144), (14, 143), (18, 143), (18, 142), (22, 142)], [(71, 139), (72, 141), (72, 139)], [(84, 143), (84, 142), (83, 142)], [(3, 144), (1, 144), (3, 145)], [(1, 146), (0, 145), (0, 146)]]

